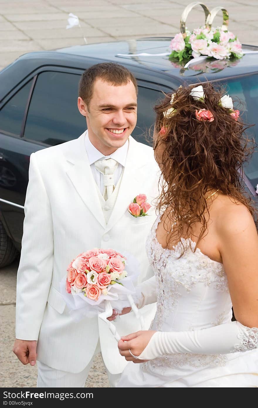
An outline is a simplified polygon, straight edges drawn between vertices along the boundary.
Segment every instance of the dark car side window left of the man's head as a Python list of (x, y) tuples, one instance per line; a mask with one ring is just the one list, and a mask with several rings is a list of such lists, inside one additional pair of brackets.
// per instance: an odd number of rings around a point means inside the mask
[(86, 129), (77, 108), (80, 75), (42, 72), (36, 81), (24, 137), (54, 146), (76, 139)]

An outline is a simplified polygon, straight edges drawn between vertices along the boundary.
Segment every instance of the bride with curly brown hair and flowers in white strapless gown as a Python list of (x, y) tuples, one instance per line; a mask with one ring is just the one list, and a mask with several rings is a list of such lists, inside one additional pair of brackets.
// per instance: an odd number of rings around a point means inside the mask
[(239, 111), (211, 84), (180, 87), (155, 111), (165, 184), (138, 307), (157, 301), (157, 313), (119, 341), (132, 362), (118, 386), (258, 387), (258, 235)]

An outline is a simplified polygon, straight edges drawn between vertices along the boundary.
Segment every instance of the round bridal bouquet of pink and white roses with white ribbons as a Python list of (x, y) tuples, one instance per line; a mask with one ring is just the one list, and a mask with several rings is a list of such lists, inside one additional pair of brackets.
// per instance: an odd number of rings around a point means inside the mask
[(115, 326), (106, 320), (113, 309), (120, 313), (131, 306), (143, 326), (143, 318), (132, 297), (136, 293), (135, 271), (139, 268), (135, 259), (131, 257), (130, 265), (127, 259), (113, 249), (93, 248), (73, 259), (60, 283), (60, 292), (75, 319), (99, 315), (117, 340), (120, 337)]

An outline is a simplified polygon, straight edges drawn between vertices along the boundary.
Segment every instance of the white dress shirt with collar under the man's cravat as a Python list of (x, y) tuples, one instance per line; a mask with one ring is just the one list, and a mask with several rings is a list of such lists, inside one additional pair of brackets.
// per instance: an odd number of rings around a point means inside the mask
[(128, 152), (128, 146), (129, 142), (128, 140), (126, 143), (119, 147), (114, 153), (110, 154), (109, 156), (104, 156), (103, 153), (101, 153), (99, 150), (93, 146), (93, 144), (90, 142), (90, 139), (88, 137), (88, 131), (86, 131), (85, 135), (85, 148), (86, 152), (88, 155), (89, 163), (90, 163), (90, 169), (93, 175), (93, 178), (99, 188), (99, 191), (101, 194), (104, 193), (104, 182), (103, 182), (103, 174), (98, 171), (94, 165), (94, 163), (99, 160), (99, 159), (113, 159), (116, 160), (119, 164), (117, 166), (117, 169), (115, 170), (114, 173), (114, 182), (115, 186), (117, 185), (119, 178), (121, 177), (121, 174), (123, 172), (123, 168), (126, 164), (126, 156)]

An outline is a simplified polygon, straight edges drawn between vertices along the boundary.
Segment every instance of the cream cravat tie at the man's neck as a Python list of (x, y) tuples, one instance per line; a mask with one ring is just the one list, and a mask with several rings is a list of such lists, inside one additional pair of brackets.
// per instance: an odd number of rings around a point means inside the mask
[(119, 163), (116, 160), (110, 158), (97, 160), (94, 164), (96, 169), (103, 174), (104, 181), (103, 197), (104, 200), (108, 200), (108, 198), (111, 197), (112, 192), (114, 191), (115, 188), (114, 173)]

